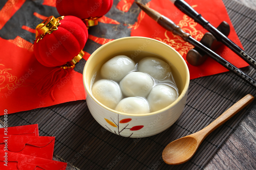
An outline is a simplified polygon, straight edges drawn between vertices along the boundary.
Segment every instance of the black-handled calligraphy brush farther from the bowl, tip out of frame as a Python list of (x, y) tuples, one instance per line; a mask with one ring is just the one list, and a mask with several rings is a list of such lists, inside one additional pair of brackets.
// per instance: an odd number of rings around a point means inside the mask
[(234, 51), (238, 56), (240, 56), (244, 61), (250, 64), (254, 69), (256, 69), (256, 61), (249, 56), (242, 48), (231, 41), (227, 36), (222, 34), (217, 28), (212, 26), (209, 21), (198, 14), (198, 12), (192, 8), (184, 0), (170, 0), (174, 5), (179, 8), (184, 14), (188, 15), (190, 18), (194, 19), (197, 23), (202, 25), (207, 31), (216, 37), (216, 39)]

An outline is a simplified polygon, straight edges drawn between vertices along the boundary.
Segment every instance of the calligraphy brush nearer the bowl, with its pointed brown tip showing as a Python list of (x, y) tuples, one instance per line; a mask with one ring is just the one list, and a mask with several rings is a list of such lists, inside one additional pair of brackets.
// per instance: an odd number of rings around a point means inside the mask
[(208, 56), (210, 56), (212, 59), (220, 63), (222, 66), (239, 76), (241, 79), (252, 85), (254, 88), (256, 88), (256, 81), (248, 76), (246, 73), (244, 73), (242, 70), (201, 44), (199, 41), (195, 40), (193, 37), (190, 36), (189, 33), (184, 32), (178, 25), (176, 25), (172, 20), (169, 18), (161, 15), (159, 12), (146, 7), (145, 5), (142, 5), (138, 2), (135, 2), (148, 16), (150, 16), (152, 19), (157, 21), (159, 25), (161, 25), (163, 28), (165, 28), (168, 31), (173, 32), (173, 34), (180, 36), (184, 41), (190, 43), (191, 45), (200, 48), (202, 51), (204, 51)]

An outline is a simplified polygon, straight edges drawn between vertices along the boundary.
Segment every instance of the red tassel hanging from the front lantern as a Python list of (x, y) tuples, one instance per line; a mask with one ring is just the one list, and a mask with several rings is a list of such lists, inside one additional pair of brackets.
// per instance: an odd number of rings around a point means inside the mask
[(44, 97), (48, 94), (51, 94), (51, 98), (53, 101), (55, 101), (55, 98), (53, 96), (53, 91), (55, 87), (58, 85), (61, 80), (68, 75), (68, 71), (66, 69), (62, 68), (56, 68), (53, 69), (50, 73), (45, 75), (37, 84), (34, 86), (34, 88), (37, 86), (38, 95), (40, 97)]

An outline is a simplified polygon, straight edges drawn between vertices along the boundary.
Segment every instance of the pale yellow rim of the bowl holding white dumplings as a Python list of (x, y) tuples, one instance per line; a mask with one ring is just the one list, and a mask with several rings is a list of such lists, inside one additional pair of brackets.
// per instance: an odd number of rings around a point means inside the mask
[[(185, 69), (186, 69), (186, 73), (187, 73), (187, 76), (186, 76), (186, 82), (185, 82), (185, 85), (184, 85), (184, 89), (182, 90), (182, 93), (179, 95), (179, 97), (170, 105), (168, 105), (167, 107), (163, 108), (163, 109), (160, 109), (158, 111), (155, 111), (155, 112), (150, 112), (150, 113), (143, 113), (143, 114), (131, 114), (131, 113), (123, 113), (123, 112), (119, 112), (119, 111), (116, 111), (116, 110), (113, 110), (113, 109), (110, 109), (108, 107), (106, 107), (105, 105), (103, 105), (102, 103), (100, 103), (91, 93), (91, 89), (89, 87), (88, 84), (86, 84), (86, 81), (85, 81), (85, 75), (86, 75), (86, 70), (87, 68), (89, 67), (89, 63), (90, 63), (90, 60), (92, 60), (92, 57), (93, 55), (95, 55), (98, 51), (100, 51), (102, 48), (104, 48), (105, 46), (108, 46), (112, 43), (116, 43), (118, 41), (123, 41), (124, 39), (145, 39), (145, 40), (150, 40), (150, 41), (155, 41), (157, 43), (160, 43), (164, 46), (167, 46), (168, 48), (172, 49), (181, 59), (182, 59), (182, 62), (184, 63), (185, 65)], [(98, 49), (96, 49), (92, 54), (91, 56), (88, 58), (88, 60), (86, 61), (85, 63), (85, 66), (84, 66), (84, 69), (83, 69), (83, 84), (84, 84), (84, 88), (86, 90), (86, 93), (87, 95), (89, 95), (96, 103), (98, 103), (101, 107), (111, 111), (111, 112), (114, 112), (116, 114), (120, 114), (120, 115), (125, 115), (125, 116), (149, 116), (149, 115), (154, 115), (154, 114), (158, 114), (158, 113), (162, 113), (162, 112), (165, 112), (166, 110), (172, 108), (176, 103), (178, 103), (187, 93), (188, 91), (188, 86), (189, 86), (189, 81), (190, 81), (190, 75), (189, 75), (189, 70), (188, 70), (188, 66), (187, 66), (187, 63), (186, 61), (184, 60), (184, 58), (171, 46), (163, 43), (162, 41), (159, 41), (159, 40), (155, 40), (153, 38), (148, 38), (148, 37), (141, 37), (141, 36), (131, 36), (131, 37), (122, 37), (122, 38), (118, 38), (118, 39), (115, 39), (115, 40), (112, 40), (106, 44), (103, 44), (102, 46), (100, 46)], [(89, 93), (88, 93), (89, 91)]]

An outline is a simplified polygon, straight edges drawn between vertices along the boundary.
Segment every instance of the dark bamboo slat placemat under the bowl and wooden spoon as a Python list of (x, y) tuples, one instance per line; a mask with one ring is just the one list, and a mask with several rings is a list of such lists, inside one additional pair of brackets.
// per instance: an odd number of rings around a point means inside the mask
[[(223, 2), (243, 47), (256, 58), (256, 11), (231, 0)], [(94, 48), (88, 50), (93, 52)], [(251, 67), (242, 70), (256, 77)], [(146, 138), (126, 138), (105, 130), (93, 119), (85, 100), (10, 114), (8, 125), (38, 124), (40, 136), (56, 136), (54, 154), (79, 169), (201, 169), (238, 125), (249, 106), (211, 133), (193, 158), (184, 164), (165, 164), (161, 156), (164, 147), (204, 128), (246, 94), (255, 96), (256, 90), (231, 72), (191, 80), (180, 118), (164, 132)]]

